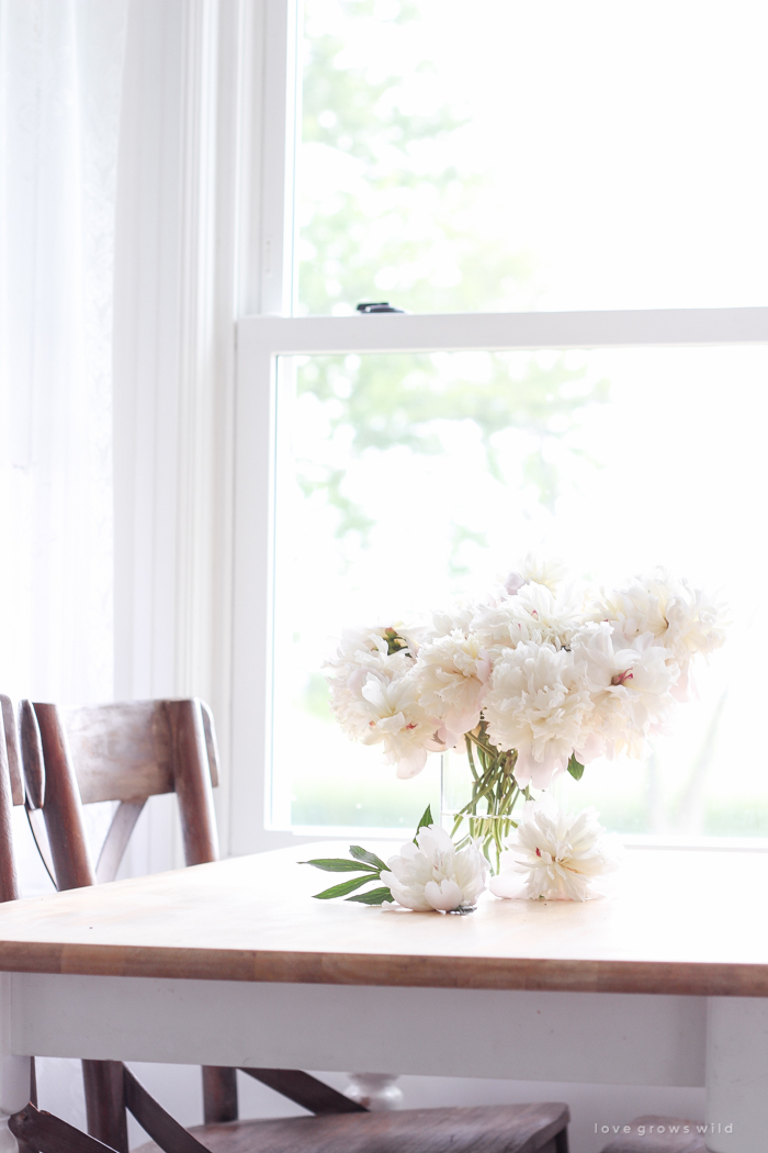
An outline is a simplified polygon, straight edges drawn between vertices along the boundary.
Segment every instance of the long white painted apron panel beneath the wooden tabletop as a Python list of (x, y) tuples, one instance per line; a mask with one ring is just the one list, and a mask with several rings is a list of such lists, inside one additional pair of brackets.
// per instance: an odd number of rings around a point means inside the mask
[(704, 997), (40, 973), (13, 981), (18, 1054), (602, 1085), (705, 1082)]

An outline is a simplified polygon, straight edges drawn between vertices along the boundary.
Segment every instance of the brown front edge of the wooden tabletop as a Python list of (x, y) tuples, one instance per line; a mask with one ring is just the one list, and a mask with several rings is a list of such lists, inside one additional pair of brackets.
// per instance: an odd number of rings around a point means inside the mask
[(768, 997), (768, 964), (0, 941), (0, 971), (176, 980)]

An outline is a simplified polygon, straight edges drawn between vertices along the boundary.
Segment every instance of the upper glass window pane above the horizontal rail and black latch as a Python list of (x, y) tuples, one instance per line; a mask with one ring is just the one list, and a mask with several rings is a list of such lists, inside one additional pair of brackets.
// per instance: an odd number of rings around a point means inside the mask
[(305, 0), (298, 308), (768, 303), (768, 8)]

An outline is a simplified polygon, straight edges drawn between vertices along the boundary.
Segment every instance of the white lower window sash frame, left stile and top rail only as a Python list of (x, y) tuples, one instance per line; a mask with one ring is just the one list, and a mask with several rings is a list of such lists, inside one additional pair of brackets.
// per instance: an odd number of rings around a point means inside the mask
[[(271, 814), (276, 366), (281, 355), (768, 344), (768, 308), (245, 317), (237, 330), (233, 749), (249, 766), (234, 844)], [(311, 581), (311, 575), (309, 576)], [(237, 828), (237, 826), (241, 826)], [(330, 835), (330, 834), (329, 834)]]

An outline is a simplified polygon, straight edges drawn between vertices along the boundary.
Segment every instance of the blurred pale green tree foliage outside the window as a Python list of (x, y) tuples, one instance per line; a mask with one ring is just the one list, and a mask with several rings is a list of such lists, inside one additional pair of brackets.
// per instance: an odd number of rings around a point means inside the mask
[[(339, 0), (337, 7), (345, 20), (368, 22), (375, 35), (381, 20), (375, 0)], [(404, 2), (389, 20), (408, 25), (418, 17), (418, 5)], [(428, 76), (431, 67), (424, 59), (416, 70)], [(380, 299), (383, 285), (393, 302), (410, 311), (503, 309), (520, 301), (530, 307), (530, 255), (478, 233), (487, 180), (451, 161), (450, 142), (466, 127), (465, 115), (451, 106), (406, 112), (408, 103), (403, 77), (372, 78), (365, 63), (351, 62), (339, 33), (315, 27), (310, 0), (298, 164), (298, 311), (329, 312), (341, 302), (349, 312), (359, 301)], [(319, 152), (326, 171), (339, 176), (332, 196), (317, 195), (322, 182), (309, 179)], [(471, 420), (499, 480), (494, 434), (526, 429), (538, 438), (525, 461), (526, 480), (553, 507), (558, 477), (546, 442), (571, 431), (585, 406), (607, 400), (608, 382), (585, 385), (584, 374), (567, 368), (563, 357), (546, 368), (531, 359), (526, 374), (512, 377), (504, 357), (494, 356), (484, 380), (446, 383), (436, 363), (423, 357), (415, 374), (412, 360), (364, 356), (350, 374), (343, 356), (314, 357), (298, 371), (298, 393), (333, 404), (332, 432), (350, 430), (352, 455), (394, 446), (438, 453), (435, 423)], [(337, 534), (365, 536), (370, 521), (345, 490), (343, 470), (314, 461), (299, 468), (304, 491), (324, 490), (339, 511)]]

